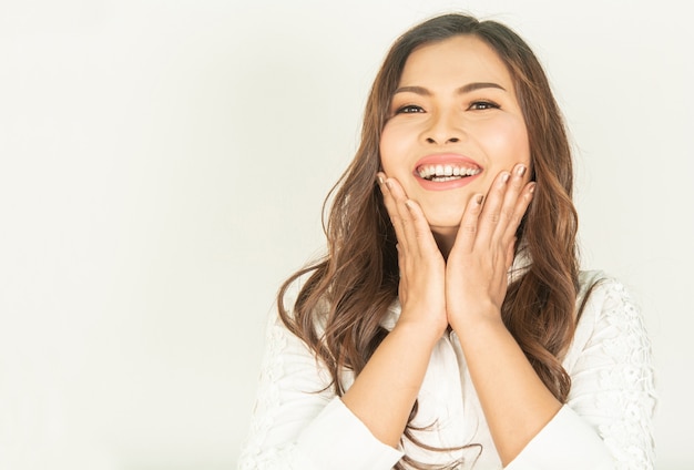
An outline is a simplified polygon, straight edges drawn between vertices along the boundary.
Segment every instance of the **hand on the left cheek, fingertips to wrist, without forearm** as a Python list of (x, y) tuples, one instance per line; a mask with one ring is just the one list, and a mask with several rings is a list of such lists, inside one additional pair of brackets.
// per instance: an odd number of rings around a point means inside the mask
[(436, 341), (446, 331), (446, 262), (421, 207), (395, 178), (378, 174), (384, 204), (398, 239), (402, 310), (398, 325), (414, 324)]

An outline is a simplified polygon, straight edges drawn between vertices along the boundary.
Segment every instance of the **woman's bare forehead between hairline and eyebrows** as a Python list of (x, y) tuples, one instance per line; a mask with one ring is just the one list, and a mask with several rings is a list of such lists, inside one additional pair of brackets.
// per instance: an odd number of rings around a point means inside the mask
[(476, 35), (456, 35), (415, 49), (405, 62), (400, 85), (447, 80), (494, 82), (507, 90), (513, 88), (507, 64)]

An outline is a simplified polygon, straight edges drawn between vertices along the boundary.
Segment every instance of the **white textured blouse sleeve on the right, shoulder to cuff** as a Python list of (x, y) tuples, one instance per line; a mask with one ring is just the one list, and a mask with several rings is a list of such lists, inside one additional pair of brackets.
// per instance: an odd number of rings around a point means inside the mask
[(643, 318), (623, 285), (604, 279), (585, 306), (569, 374), (569, 406), (598, 431), (616, 469), (654, 464), (655, 389)]

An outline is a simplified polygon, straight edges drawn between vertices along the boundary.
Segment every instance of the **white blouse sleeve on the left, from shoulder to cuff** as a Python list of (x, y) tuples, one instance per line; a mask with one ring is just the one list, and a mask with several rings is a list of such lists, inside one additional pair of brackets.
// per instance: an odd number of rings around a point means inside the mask
[(374, 438), (330, 384), (308, 347), (277, 316), (271, 319), (238, 469), (390, 469), (400, 452)]

